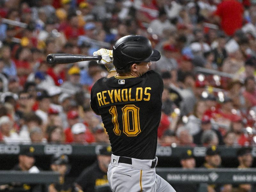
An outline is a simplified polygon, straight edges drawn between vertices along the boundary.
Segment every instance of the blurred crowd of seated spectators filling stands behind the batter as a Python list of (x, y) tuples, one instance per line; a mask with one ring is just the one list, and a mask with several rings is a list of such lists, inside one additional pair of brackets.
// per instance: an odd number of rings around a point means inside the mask
[(255, 12), (254, 0), (1, 0), (0, 142), (108, 143), (90, 109), (104, 66), (46, 56), (137, 34), (161, 52), (159, 145), (254, 146)]

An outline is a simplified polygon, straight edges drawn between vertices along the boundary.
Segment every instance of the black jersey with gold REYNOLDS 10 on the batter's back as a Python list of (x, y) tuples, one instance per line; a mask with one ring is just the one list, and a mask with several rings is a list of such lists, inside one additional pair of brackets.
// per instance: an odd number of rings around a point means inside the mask
[(103, 77), (93, 85), (91, 108), (102, 118), (114, 155), (155, 158), (163, 86), (154, 71), (141, 77)]

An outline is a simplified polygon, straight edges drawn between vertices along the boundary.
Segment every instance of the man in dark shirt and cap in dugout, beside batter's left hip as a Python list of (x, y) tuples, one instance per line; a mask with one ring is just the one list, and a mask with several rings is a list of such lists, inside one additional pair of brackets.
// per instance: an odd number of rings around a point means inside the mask
[(80, 174), (76, 186), (84, 192), (112, 192), (107, 178), (111, 154), (110, 146), (100, 146), (97, 160)]

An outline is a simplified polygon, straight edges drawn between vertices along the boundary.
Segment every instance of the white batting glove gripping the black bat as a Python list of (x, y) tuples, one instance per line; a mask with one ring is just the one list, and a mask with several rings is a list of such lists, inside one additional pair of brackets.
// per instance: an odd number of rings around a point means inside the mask
[(116, 71), (115, 66), (113, 65), (113, 52), (108, 49), (100, 49), (93, 52), (93, 56), (101, 56), (101, 60), (98, 60), (97, 63), (104, 65), (108, 72)]

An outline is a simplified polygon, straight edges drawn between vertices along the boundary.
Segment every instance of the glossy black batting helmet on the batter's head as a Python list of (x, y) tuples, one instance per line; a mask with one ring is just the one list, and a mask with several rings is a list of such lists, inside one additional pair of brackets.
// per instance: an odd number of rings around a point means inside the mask
[(144, 36), (124, 36), (113, 46), (113, 64), (117, 69), (130, 63), (158, 61), (160, 57), (160, 52), (153, 49), (151, 42)]

